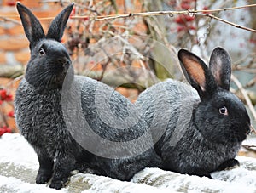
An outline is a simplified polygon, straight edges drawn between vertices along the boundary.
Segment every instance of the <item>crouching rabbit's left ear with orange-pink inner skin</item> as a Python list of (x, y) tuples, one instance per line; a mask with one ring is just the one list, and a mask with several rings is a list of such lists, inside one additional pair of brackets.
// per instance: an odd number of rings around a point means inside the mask
[(186, 49), (180, 49), (177, 56), (186, 79), (197, 90), (201, 99), (212, 95), (217, 84), (203, 60)]

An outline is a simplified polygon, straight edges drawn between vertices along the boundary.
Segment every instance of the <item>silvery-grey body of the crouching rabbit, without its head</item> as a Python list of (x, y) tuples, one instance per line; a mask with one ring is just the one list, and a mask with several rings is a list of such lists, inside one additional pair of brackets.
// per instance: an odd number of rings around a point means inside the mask
[(163, 169), (189, 174), (212, 172), (240, 149), (241, 143), (221, 145), (202, 136), (193, 122), (194, 109), (200, 102), (194, 88), (172, 79), (139, 95), (137, 106), (151, 129)]

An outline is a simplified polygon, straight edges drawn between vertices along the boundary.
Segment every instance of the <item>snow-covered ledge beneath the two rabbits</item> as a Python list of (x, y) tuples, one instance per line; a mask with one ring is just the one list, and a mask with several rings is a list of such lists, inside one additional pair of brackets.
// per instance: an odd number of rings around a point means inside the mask
[(237, 156), (241, 167), (212, 173), (214, 179), (145, 168), (131, 182), (77, 173), (66, 188), (35, 184), (38, 158), (20, 134), (0, 139), (0, 192), (255, 192), (256, 159)]

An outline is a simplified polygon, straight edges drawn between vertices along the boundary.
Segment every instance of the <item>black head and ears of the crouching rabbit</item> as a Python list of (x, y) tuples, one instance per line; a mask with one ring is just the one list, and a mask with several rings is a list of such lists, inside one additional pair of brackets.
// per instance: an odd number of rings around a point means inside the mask
[(250, 118), (245, 106), (230, 93), (230, 55), (215, 48), (207, 65), (195, 54), (178, 52), (183, 73), (198, 92), (201, 102), (195, 109), (196, 128), (208, 140), (217, 143), (241, 142), (250, 132)]

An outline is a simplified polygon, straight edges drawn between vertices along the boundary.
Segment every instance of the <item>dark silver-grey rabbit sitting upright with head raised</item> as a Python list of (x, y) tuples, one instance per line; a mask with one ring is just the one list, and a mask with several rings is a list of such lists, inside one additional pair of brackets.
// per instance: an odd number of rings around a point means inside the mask
[[(144, 135), (147, 123), (140, 117), (134, 123), (125, 122), (132, 106), (128, 99), (102, 82), (74, 76), (72, 61), (61, 44), (73, 4), (55, 17), (47, 35), (29, 9), (20, 3), (17, 9), (31, 59), (16, 91), (15, 118), (38, 155), (36, 183), (47, 183), (52, 177), (49, 187), (61, 189), (73, 169), (88, 166), (98, 174), (128, 180), (143, 167), (159, 162), (152, 144), (150, 148), (151, 135)], [(111, 119), (111, 113), (118, 120)], [(119, 148), (122, 142), (142, 136), (149, 145), (144, 149), (137, 143)]]

